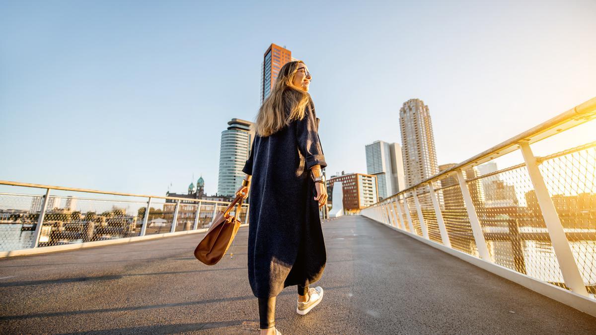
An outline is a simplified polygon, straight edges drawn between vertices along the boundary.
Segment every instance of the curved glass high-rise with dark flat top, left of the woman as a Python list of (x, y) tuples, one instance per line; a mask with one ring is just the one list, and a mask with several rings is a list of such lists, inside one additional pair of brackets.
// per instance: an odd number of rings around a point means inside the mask
[(250, 148), (254, 140), (254, 132), (250, 130), (252, 122), (232, 119), (228, 129), (222, 131), (219, 148), (218, 194), (234, 196), (242, 185), (244, 164), (250, 157)]

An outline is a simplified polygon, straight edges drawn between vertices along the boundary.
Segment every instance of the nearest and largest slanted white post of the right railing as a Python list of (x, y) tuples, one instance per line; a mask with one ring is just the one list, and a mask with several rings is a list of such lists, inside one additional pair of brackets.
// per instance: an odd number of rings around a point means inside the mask
[(538, 205), (540, 206), (544, 223), (547, 226), (552, 249), (554, 249), (555, 256), (557, 256), (565, 285), (575, 293), (588, 296), (582, 275), (579, 272), (578, 265), (569, 247), (569, 241), (563, 230), (563, 225), (561, 225), (557, 210), (554, 204), (552, 204), (547, 185), (544, 183), (540, 169), (538, 169), (538, 162), (536, 162), (536, 157), (532, 153), (532, 148), (530, 148), (527, 142), (522, 142), (520, 143), (520, 149), (522, 150), (523, 159), (526, 162), (527, 172), (530, 175), (530, 180), (532, 181)]

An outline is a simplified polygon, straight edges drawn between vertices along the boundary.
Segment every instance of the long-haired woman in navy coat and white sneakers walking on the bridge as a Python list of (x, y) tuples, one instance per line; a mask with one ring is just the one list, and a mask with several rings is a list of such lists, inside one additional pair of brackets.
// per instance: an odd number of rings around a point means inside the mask
[(327, 203), (321, 172), (327, 163), (308, 94), (311, 79), (303, 61), (281, 67), (253, 125), (246, 178), (237, 191), (247, 197), (250, 188), (249, 282), (259, 300), (261, 334), (280, 334), (275, 299), (285, 287), (297, 285), (301, 315), (323, 296), (320, 286), (308, 287), (327, 261), (319, 218)]

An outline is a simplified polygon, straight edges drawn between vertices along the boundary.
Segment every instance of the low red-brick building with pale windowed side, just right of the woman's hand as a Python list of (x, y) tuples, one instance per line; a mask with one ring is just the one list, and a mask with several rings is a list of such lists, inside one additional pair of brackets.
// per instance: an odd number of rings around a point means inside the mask
[(362, 208), (368, 207), (378, 201), (377, 178), (364, 173), (348, 173), (340, 176), (331, 176), (327, 181), (329, 202), (333, 206), (333, 184), (342, 182), (343, 209), (347, 213), (357, 213)]

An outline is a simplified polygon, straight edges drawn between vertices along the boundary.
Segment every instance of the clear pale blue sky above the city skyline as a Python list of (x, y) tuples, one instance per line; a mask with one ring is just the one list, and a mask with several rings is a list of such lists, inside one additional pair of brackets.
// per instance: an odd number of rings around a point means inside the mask
[(0, 179), (163, 195), (217, 190), (254, 120), (269, 44), (308, 64), (328, 175), (366, 172), (420, 98), (439, 163), (596, 96), (595, 1), (2, 1)]

